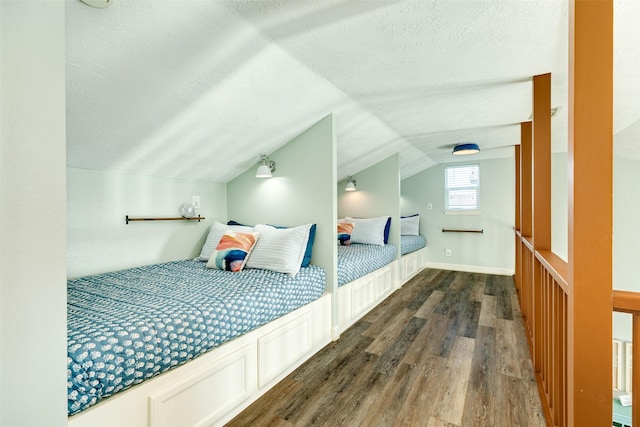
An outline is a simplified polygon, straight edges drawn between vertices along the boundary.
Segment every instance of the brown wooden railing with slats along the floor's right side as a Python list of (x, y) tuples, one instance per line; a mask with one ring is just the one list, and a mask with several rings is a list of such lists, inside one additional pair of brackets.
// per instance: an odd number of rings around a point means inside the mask
[(531, 358), (547, 424), (567, 418), (567, 263), (550, 251), (534, 251), (516, 233), (516, 278)]

